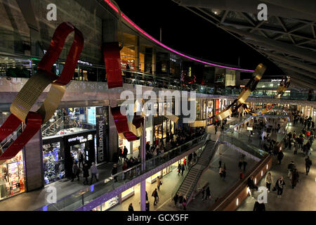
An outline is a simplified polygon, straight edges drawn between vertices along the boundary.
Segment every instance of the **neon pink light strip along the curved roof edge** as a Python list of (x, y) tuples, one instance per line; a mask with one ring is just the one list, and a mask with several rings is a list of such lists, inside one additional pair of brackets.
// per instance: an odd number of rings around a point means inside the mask
[[(119, 10), (117, 9), (116, 6), (114, 6), (112, 4), (112, 2), (110, 0), (104, 0), (111, 8), (113, 8), (114, 11), (116, 11), (117, 13), (119, 13)], [(133, 23), (133, 21), (131, 21), (126, 15), (124, 15), (124, 13), (121, 13), (121, 17), (124, 18), (130, 25), (132, 25), (133, 27), (136, 28), (136, 30), (138, 30), (139, 32), (141, 32), (142, 34), (144, 34), (146, 37), (148, 37), (149, 39), (151, 39), (152, 41), (156, 42), (157, 44), (159, 44), (160, 46), (164, 47), (165, 49), (168, 49), (169, 51), (172, 51), (173, 53), (176, 53), (180, 56), (183, 56), (185, 58), (189, 58), (190, 60), (194, 60), (197, 61), (199, 63), (204, 63), (207, 65), (213, 65), (219, 68), (226, 68), (226, 69), (230, 69), (230, 70), (239, 70), (239, 71), (245, 71), (245, 72), (254, 72), (254, 70), (244, 70), (244, 69), (239, 69), (239, 68), (230, 68), (228, 66), (223, 66), (223, 65), (217, 65), (217, 64), (213, 64), (213, 63), (207, 63), (205, 61), (202, 60), (198, 60), (197, 58), (192, 58), (190, 56), (186, 56), (183, 53), (180, 53), (176, 50), (173, 50), (171, 48), (169, 48), (168, 46), (165, 46), (164, 44), (162, 44), (162, 42), (157, 41), (156, 39), (154, 39), (152, 36), (150, 36), (150, 34), (147, 34), (145, 31), (143, 31), (140, 27), (138, 27), (138, 25), (136, 25), (135, 23)]]

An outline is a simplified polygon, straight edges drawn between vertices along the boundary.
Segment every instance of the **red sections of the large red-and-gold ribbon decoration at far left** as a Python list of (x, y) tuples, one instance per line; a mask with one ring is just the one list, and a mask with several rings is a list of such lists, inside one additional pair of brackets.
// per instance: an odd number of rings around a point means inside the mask
[[(51, 73), (51, 67), (58, 60), (62, 47), (65, 44), (67, 36), (74, 32), (74, 40), (70, 52), (67, 55), (67, 60), (62, 70), (60, 77)], [(51, 44), (46, 51), (44, 57), (39, 62), (37, 70), (44, 70), (46, 76), (55, 76), (56, 80), (53, 84), (66, 85), (70, 82), (74, 75), (74, 68), (76, 68), (80, 53), (84, 48), (84, 36), (71, 23), (61, 23), (55, 30)], [(0, 160), (8, 160), (13, 157), (32, 139), (32, 137), (39, 131), (43, 122), (43, 116), (40, 113), (29, 112), (25, 120), (26, 127), (22, 134), (18, 136), (13, 143), (0, 155)], [(22, 121), (15, 115), (11, 114), (7, 120), (0, 127), (0, 142), (17, 129)]]

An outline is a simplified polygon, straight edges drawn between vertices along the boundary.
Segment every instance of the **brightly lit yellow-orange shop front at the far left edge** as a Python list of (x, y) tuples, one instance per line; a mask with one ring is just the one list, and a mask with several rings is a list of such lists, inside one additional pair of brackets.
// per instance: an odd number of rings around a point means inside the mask
[(23, 150), (0, 165), (0, 200), (25, 192)]

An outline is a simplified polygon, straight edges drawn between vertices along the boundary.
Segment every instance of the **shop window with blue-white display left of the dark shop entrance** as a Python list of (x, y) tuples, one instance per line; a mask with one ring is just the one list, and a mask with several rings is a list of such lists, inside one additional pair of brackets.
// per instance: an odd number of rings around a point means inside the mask
[(43, 145), (43, 162), (46, 184), (65, 178), (65, 153), (60, 142)]

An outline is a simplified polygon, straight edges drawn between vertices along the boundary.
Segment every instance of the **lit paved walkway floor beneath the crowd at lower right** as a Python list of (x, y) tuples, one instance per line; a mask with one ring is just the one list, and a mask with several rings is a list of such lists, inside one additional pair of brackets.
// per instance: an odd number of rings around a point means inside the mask
[[(289, 131), (296, 131), (298, 134), (301, 131), (301, 124), (296, 124), (296, 127), (289, 127)], [(306, 142), (306, 140), (305, 140)], [(284, 177), (284, 181), (286, 186), (284, 187), (284, 192), (282, 198), (277, 198), (277, 193), (275, 191), (271, 191), (268, 193), (268, 203), (265, 204), (265, 210), (267, 211), (315, 211), (316, 210), (316, 141), (312, 144), (312, 155), (310, 155), (310, 159), (312, 160), (312, 167), (310, 168), (310, 173), (308, 176), (305, 175), (305, 158), (303, 157), (303, 152), (298, 150), (298, 154), (294, 155), (294, 148), (289, 150), (289, 148), (283, 150), (284, 158), (282, 160), (281, 165), (277, 165), (276, 157), (273, 158), (272, 168), (270, 172), (272, 173), (274, 183), (277, 181), (279, 176)], [(297, 186), (292, 189), (291, 181), (287, 177), (287, 165), (291, 161), (294, 161), (296, 168), (299, 173), (299, 182)], [(265, 181), (262, 179), (258, 186), (265, 186)], [(274, 184), (272, 184), (274, 186)], [(254, 209), (254, 203), (256, 202), (256, 198), (260, 193), (254, 193), (253, 198), (246, 198), (244, 203), (242, 203), (238, 211), (252, 211)]]

